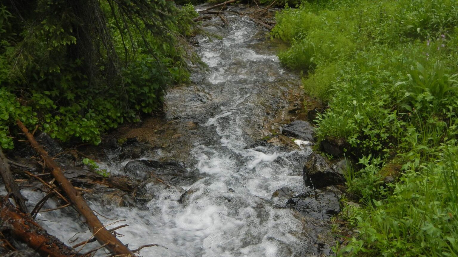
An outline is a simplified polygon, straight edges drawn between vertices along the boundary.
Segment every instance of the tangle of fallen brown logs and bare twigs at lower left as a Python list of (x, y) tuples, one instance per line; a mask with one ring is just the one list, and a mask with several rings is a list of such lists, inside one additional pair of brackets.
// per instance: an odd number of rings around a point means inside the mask
[[(45, 182), (39, 175), (35, 175), (28, 171), (22, 171), (41, 182), (45, 190), (47, 190), (46, 196), (41, 199), (32, 210), (27, 209), (24, 197), (10, 169), (10, 164), (15, 166), (21, 166), (21, 164), (8, 160), (0, 148), (0, 175), (8, 192), (5, 197), (0, 198), (0, 248), (4, 248), (3, 252), (16, 251), (14, 244), (11, 243), (8, 238), (14, 238), (16, 241), (25, 243), (35, 252), (46, 257), (93, 256), (95, 252), (102, 248), (108, 250), (112, 256), (128, 257), (135, 256), (143, 247), (157, 246), (156, 244), (144, 245), (131, 250), (126, 244), (122, 243), (116, 237), (118, 234), (115, 230), (127, 225), (120, 225), (108, 230), (106, 227), (111, 224), (102, 224), (98, 219), (98, 215), (94, 214), (94, 211), (82, 197), (80, 191), (85, 191), (85, 189), (74, 187), (64, 176), (63, 168), (56, 164), (53, 158), (49, 156), (48, 152), (38, 144), (33, 134), (27, 130), (24, 124), (19, 120), (16, 120), (16, 124), (25, 134), (30, 145), (37, 151), (44, 166), (49, 170), (49, 174), (47, 175), (51, 175), (54, 179), (52, 182)], [(104, 183), (108, 184), (109, 181), (104, 181)], [(126, 191), (129, 191), (130, 188), (129, 185), (123, 185), (120, 182), (109, 184), (112, 187), (123, 188)], [(59, 198), (62, 205), (58, 208), (42, 210), (44, 203), (46, 203), (51, 196)], [(11, 201), (13, 201), (16, 206), (14, 206)], [(61, 242), (55, 236), (48, 234), (46, 230), (35, 221), (39, 212), (55, 211), (69, 207), (76, 209), (92, 232), (92, 236), (88, 240), (77, 243), (72, 247), (65, 245), (65, 243)], [(98, 241), (100, 246), (82, 252), (84, 246), (93, 241)]]

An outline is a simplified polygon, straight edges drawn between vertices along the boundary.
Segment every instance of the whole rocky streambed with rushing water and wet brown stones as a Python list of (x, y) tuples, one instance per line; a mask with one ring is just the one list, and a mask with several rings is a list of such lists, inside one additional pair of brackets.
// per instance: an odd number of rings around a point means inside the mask
[[(246, 17), (224, 18), (228, 24), (218, 16), (203, 21), (218, 35), (195, 38), (209, 68), (172, 88), (161, 115), (126, 125), (99, 146), (65, 150), (45, 134), (38, 140), (108, 228), (129, 225), (119, 230), (124, 243), (159, 245), (142, 256), (327, 256), (345, 165), (312, 154), (300, 78), (276, 56), (283, 43)], [(27, 144), (19, 149), (17, 174), (44, 172)], [(106, 172), (87, 170), (83, 158)], [(21, 183), (33, 208), (46, 193), (38, 182)], [(49, 198), (44, 209), (56, 206)], [(91, 236), (73, 209), (37, 220), (69, 245)]]

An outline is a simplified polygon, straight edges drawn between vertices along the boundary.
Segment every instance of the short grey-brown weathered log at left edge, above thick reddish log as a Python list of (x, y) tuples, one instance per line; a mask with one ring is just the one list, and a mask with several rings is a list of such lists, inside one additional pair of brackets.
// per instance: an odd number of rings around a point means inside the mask
[(13, 174), (11, 173), (10, 165), (8, 164), (8, 159), (6, 159), (5, 155), (3, 154), (1, 147), (0, 147), (0, 175), (3, 178), (3, 182), (5, 183), (6, 191), (8, 191), (8, 193), (11, 194), (17, 207), (23, 213), (28, 213), (26, 203), (21, 194), (21, 190), (19, 189), (19, 187), (16, 186), (16, 183), (14, 182), (14, 177), (13, 177)]

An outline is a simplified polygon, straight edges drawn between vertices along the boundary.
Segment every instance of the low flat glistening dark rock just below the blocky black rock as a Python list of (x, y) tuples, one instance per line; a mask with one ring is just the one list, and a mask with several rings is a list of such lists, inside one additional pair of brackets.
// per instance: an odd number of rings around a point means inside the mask
[(316, 189), (290, 198), (286, 205), (303, 215), (329, 220), (340, 212), (339, 194), (335, 187)]

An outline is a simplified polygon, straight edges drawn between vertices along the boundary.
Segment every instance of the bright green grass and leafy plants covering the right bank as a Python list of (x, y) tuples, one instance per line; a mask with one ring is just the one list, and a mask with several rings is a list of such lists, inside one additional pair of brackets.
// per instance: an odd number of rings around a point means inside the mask
[[(458, 256), (458, 5), (454, 0), (304, 2), (278, 13), (279, 54), (327, 106), (317, 137), (347, 143), (360, 256)], [(390, 177), (390, 179), (386, 179)]]

